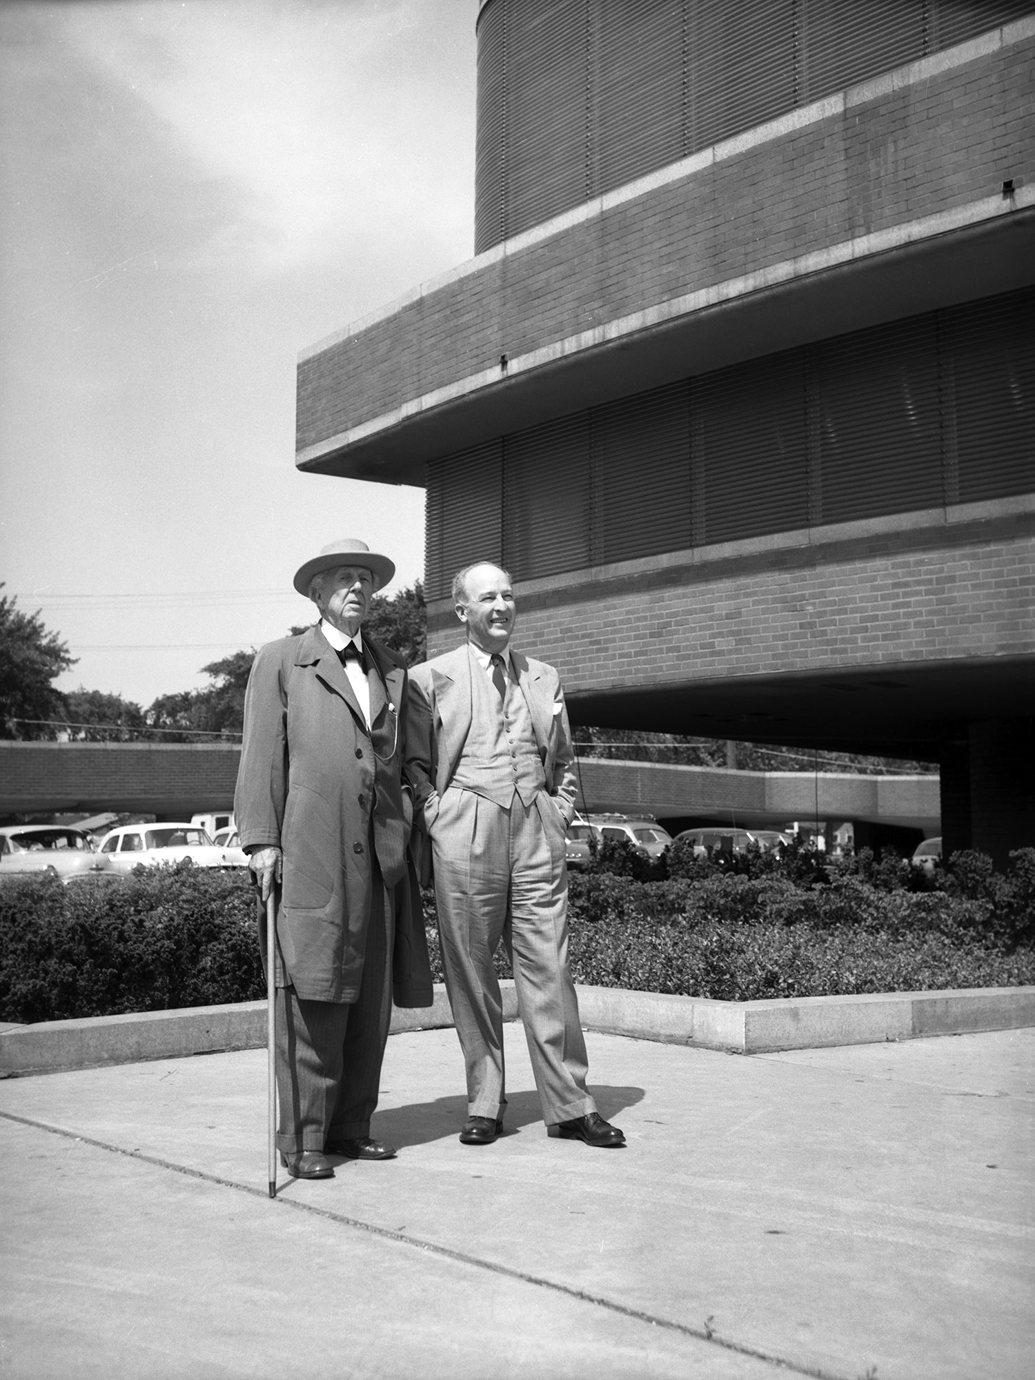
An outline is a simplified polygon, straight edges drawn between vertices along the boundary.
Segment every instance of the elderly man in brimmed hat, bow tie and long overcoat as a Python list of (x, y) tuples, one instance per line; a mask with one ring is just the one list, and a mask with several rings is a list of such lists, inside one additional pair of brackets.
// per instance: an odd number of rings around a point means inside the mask
[(328, 1155), (395, 1155), (370, 1136), (392, 999), (432, 1003), (406, 664), (360, 632), (393, 574), (353, 538), (306, 560), (294, 586), (320, 621), (259, 650), (244, 698), (235, 814), (262, 903), (276, 897), (276, 1145), (294, 1179), (333, 1177)]

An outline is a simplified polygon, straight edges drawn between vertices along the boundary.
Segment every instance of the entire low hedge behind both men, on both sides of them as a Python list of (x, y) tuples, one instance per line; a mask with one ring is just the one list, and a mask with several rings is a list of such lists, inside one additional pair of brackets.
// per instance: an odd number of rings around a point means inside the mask
[[(1025, 850), (1029, 853), (1031, 850)], [(1035, 854), (1032, 854), (1035, 858)], [(573, 876), (577, 983), (724, 1000), (1035, 983), (1031, 914), (988, 875), (970, 896), (713, 871), (700, 880)], [(1035, 871), (1032, 871), (1035, 876)], [(442, 980), (435, 901), (425, 894)], [(498, 970), (509, 969), (502, 952)], [(0, 1020), (46, 1021), (265, 995), (254, 893), (240, 872), (189, 865), (123, 882), (0, 886)]]

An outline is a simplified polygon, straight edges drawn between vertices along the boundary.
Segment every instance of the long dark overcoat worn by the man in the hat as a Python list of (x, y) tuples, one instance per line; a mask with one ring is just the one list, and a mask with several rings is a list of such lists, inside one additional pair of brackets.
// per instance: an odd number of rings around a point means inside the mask
[(371, 820), (377, 860), (396, 905), (393, 995), (431, 1006), (421, 897), (407, 840), (403, 788), (407, 673), (396, 653), (364, 638), (385, 684), (373, 724), (319, 627), (262, 647), (244, 697), (235, 816), (241, 846), (283, 850), (277, 983), (304, 999), (355, 1002), (371, 901)]

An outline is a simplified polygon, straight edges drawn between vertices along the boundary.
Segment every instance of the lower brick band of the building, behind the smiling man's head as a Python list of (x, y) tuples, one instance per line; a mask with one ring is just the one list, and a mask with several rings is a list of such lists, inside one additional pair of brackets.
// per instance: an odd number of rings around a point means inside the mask
[[(949, 549), (896, 549), (887, 537), (803, 546), (782, 566), (780, 552), (745, 559), (741, 573), (736, 560), (640, 562), (610, 581), (574, 571), (553, 588), (519, 586), (516, 643), (556, 665), (569, 691), (1031, 654), (1027, 526)], [(436, 656), (462, 629), (448, 600), (431, 614)]]

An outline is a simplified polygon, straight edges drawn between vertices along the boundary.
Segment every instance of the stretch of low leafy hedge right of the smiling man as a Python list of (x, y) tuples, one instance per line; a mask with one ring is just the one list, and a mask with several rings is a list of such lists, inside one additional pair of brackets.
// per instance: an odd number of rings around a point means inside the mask
[(879, 891), (846, 880), (802, 890), (781, 878), (571, 882), (577, 983), (758, 1000), (1035, 983), (987, 901)]

